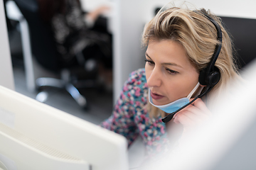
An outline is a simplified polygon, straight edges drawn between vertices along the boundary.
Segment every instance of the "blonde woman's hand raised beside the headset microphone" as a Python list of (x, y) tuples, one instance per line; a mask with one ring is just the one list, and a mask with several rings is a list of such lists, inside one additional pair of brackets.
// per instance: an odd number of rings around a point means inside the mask
[[(191, 101), (193, 98), (191, 98)], [(174, 123), (181, 123), (184, 131), (193, 130), (193, 128), (202, 125), (210, 119), (211, 113), (203, 103), (201, 98), (196, 99), (190, 106), (174, 115)]]

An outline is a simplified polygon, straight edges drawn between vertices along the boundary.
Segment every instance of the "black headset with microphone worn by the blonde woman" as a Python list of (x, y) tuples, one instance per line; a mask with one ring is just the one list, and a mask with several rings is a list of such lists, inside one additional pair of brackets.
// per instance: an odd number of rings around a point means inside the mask
[[(195, 11), (195, 12), (199, 12), (199, 11)], [(213, 25), (215, 26), (215, 28), (217, 30), (217, 40), (220, 42), (215, 46), (213, 56), (211, 57), (211, 60), (208, 63), (207, 67), (203, 68), (199, 74), (199, 78), (198, 78), (199, 83), (206, 87), (204, 87), (201, 94), (196, 96), (196, 98), (194, 98), (191, 102), (189, 102), (185, 106), (179, 108), (177, 111), (174, 111), (173, 113), (170, 113), (166, 117), (162, 118), (161, 120), (164, 123), (169, 122), (178, 111), (181, 111), (183, 108), (186, 108), (186, 106), (188, 106), (191, 103), (193, 103), (194, 101), (196, 101), (196, 99), (201, 98), (201, 97), (205, 96), (206, 94), (208, 94), (208, 92), (211, 89), (213, 89), (213, 87), (216, 84), (218, 84), (218, 81), (220, 81), (220, 70), (218, 69), (218, 67), (215, 67), (215, 62), (218, 59), (218, 55), (220, 54), (220, 49), (221, 49), (221, 45), (222, 45), (222, 31), (221, 31), (218, 23), (213, 18), (208, 16), (206, 13), (203, 13), (203, 12), (200, 12), (200, 13), (203, 14), (203, 16), (205, 16), (206, 18), (208, 18), (208, 20), (211, 23), (213, 23)]]

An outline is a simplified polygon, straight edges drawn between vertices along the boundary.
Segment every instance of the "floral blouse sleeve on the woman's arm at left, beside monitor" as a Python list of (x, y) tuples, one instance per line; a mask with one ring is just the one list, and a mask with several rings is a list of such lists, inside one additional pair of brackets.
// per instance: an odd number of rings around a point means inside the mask
[(101, 123), (103, 128), (107, 128), (126, 137), (129, 145), (139, 135), (139, 129), (134, 121), (136, 106), (131, 91), (134, 89), (134, 86), (137, 86), (137, 83), (134, 82), (138, 81), (141, 77), (139, 71), (132, 72), (129, 75), (129, 79), (124, 83), (119, 99), (114, 106), (112, 115)]

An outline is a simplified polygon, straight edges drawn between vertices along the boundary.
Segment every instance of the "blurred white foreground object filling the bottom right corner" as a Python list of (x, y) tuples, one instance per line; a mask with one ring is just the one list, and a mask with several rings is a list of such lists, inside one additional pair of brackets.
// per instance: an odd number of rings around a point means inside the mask
[[(152, 169), (241, 170), (256, 169), (256, 63), (233, 82), (213, 120), (203, 126), (178, 151), (161, 157)], [(149, 168), (150, 169), (150, 168)]]

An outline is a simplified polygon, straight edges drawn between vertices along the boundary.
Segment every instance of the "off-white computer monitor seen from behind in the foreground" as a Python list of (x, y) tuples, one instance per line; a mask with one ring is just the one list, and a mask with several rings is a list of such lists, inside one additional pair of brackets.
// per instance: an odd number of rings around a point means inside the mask
[(0, 169), (128, 169), (127, 140), (0, 86)]

